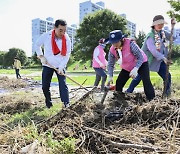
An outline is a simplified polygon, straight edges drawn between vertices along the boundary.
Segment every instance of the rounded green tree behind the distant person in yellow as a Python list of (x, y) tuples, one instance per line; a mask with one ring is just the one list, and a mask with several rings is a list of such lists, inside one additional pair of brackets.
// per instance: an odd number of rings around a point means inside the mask
[(15, 57), (18, 57), (18, 59), (21, 61), (22, 65), (24, 65), (27, 62), (27, 56), (22, 49), (11, 48), (4, 55), (3, 66), (12, 66)]

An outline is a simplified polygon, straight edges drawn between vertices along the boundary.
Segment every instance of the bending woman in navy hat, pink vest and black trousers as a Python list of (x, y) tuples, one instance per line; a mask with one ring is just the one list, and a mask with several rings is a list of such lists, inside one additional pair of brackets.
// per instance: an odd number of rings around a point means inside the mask
[(150, 81), (147, 56), (139, 46), (131, 39), (125, 38), (121, 30), (109, 33), (109, 43), (112, 44), (108, 56), (109, 81), (112, 81), (115, 61), (122, 68), (116, 80), (116, 91), (114, 94), (122, 94), (128, 79), (135, 78), (141, 74), (146, 98), (150, 101), (155, 97), (154, 88)]

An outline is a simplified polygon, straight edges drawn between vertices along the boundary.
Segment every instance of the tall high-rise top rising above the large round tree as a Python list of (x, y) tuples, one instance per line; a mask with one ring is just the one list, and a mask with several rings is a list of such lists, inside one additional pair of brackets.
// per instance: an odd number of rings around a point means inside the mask
[(97, 3), (92, 3), (91, 0), (85, 1), (79, 4), (79, 23), (82, 22), (83, 18), (92, 12), (103, 10), (105, 7), (104, 2), (99, 1)]

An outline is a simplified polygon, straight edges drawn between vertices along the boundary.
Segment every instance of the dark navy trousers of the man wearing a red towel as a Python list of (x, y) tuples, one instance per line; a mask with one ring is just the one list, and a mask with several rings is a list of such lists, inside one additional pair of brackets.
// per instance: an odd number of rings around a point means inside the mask
[(54, 69), (43, 66), (42, 71), (42, 90), (45, 96), (46, 106), (51, 107), (51, 93), (50, 93), (50, 84), (53, 73), (56, 73), (58, 82), (59, 82), (59, 93), (61, 101), (64, 103), (69, 103), (69, 91), (66, 85), (66, 78), (64, 75), (59, 75)]

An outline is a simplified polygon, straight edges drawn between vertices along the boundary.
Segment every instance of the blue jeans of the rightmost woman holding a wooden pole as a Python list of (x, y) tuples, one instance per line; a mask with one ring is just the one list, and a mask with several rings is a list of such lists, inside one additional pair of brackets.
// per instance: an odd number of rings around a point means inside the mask
[[(163, 79), (164, 82), (165, 82), (165, 78), (166, 78), (166, 69), (167, 69), (167, 66), (164, 63), (164, 61), (162, 61), (159, 71), (157, 73)], [(132, 93), (134, 91), (134, 88), (140, 83), (140, 81), (141, 81), (141, 76), (138, 75), (135, 79), (132, 80), (129, 88), (126, 91), (129, 93)], [(169, 73), (167, 86), (166, 86), (166, 95), (169, 95), (170, 93), (171, 93), (171, 74)]]

